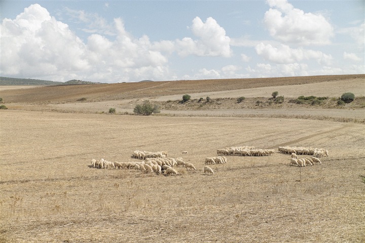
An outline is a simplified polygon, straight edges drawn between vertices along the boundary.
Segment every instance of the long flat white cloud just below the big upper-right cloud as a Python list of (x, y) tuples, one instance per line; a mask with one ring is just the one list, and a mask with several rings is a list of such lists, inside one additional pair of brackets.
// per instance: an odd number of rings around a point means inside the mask
[(260, 43), (255, 47), (258, 55), (265, 60), (275, 63), (295, 63), (302, 60), (316, 60), (319, 64), (330, 64), (332, 61), (331, 55), (326, 55), (320, 51), (307, 50), (303, 48), (292, 49), (287, 45), (279, 45), (273, 47), (270, 44), (265, 45)]

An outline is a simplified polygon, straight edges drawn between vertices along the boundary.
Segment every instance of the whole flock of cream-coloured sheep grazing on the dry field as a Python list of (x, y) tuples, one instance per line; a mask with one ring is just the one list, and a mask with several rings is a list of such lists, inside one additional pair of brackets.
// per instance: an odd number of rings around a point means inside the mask
[[(318, 157), (329, 156), (328, 150), (323, 148), (305, 148), (305, 147), (279, 147), (280, 153), (291, 154), (290, 165), (305, 167), (307, 165), (313, 166), (315, 164), (322, 164)], [(274, 149), (255, 149), (253, 146), (239, 146), (216, 150), (218, 155), (241, 155), (241, 156), (266, 156), (275, 153)], [(187, 151), (182, 152), (184, 154)], [(312, 155), (312, 157), (298, 158), (297, 154)], [(182, 167), (186, 170), (196, 170), (195, 166), (191, 163), (185, 162), (181, 157), (169, 158), (167, 157), (167, 151), (149, 152), (149, 151), (133, 151), (132, 158), (140, 159), (142, 161), (132, 162), (112, 162), (105, 159), (92, 159), (91, 166), (99, 169), (124, 169), (135, 170), (143, 173), (156, 173), (164, 175), (179, 175), (176, 167)], [(205, 165), (225, 164), (227, 158), (225, 156), (218, 157), (206, 157)], [(181, 172), (181, 171), (180, 171)], [(204, 174), (213, 175), (213, 170), (204, 166)]]

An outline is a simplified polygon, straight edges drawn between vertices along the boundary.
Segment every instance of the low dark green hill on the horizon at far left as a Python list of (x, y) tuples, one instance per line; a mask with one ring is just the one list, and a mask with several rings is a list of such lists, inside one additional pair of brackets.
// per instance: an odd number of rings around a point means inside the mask
[(41, 79), (31, 79), (31, 78), (14, 78), (14, 77), (0, 77), (0, 86), (2, 85), (34, 85), (34, 86), (44, 86), (44, 85), (96, 85), (101, 83), (94, 83), (89, 81), (72, 79), (67, 82), (55, 82), (50, 80), (41, 80)]

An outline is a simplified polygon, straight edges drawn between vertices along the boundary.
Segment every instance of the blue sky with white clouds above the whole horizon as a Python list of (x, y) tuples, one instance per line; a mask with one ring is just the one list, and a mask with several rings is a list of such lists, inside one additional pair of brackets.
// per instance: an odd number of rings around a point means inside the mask
[(356, 1), (0, 1), (0, 75), (121, 83), (365, 73)]

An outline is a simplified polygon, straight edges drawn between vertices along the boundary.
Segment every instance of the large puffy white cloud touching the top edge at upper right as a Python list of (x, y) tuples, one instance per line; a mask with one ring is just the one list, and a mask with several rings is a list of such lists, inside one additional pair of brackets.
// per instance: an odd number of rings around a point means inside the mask
[(286, 0), (267, 0), (270, 9), (264, 24), (275, 39), (299, 45), (326, 45), (334, 35), (334, 28), (320, 14), (304, 13)]

